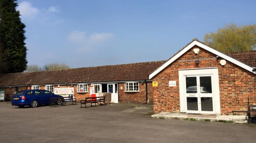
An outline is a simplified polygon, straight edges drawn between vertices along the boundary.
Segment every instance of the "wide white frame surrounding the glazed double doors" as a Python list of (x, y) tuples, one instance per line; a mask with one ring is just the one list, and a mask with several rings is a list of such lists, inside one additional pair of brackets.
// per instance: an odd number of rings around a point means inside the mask
[[(179, 88), (180, 88), (180, 112), (186, 113), (186, 82), (184, 81), (185, 76), (203, 76), (203, 75), (212, 75), (212, 88), (213, 88), (213, 108), (214, 114), (221, 114), (221, 106), (220, 106), (220, 90), (219, 90), (219, 78), (218, 78), (218, 68), (202, 68), (202, 69), (180, 69), (178, 71), (179, 74)], [(198, 108), (199, 109), (199, 108)], [(201, 112), (208, 113), (208, 112)], [(213, 112), (212, 112), (213, 113)]]

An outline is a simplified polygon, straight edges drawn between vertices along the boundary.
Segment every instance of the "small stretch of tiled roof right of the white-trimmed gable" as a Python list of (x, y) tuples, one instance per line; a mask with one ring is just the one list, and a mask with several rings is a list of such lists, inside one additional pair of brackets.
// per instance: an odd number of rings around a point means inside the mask
[(230, 52), (228, 55), (241, 60), (249, 66), (256, 67), (256, 50), (242, 51), (242, 52)]

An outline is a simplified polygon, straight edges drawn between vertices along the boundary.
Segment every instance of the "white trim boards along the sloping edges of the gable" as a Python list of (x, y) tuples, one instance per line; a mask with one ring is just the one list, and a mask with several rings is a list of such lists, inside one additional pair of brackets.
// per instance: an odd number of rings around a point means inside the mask
[(246, 65), (245, 63), (243, 63), (243, 62), (241, 62), (241, 61), (238, 61), (238, 60), (236, 60), (236, 59), (234, 59), (234, 58), (232, 58), (232, 57), (229, 57), (228, 55), (223, 54), (223, 53), (221, 53), (221, 52), (215, 50), (214, 48), (211, 48), (211, 47), (209, 47), (209, 46), (207, 46), (207, 45), (204, 45), (204, 44), (202, 44), (202, 43), (200, 43), (200, 42), (194, 40), (194, 41), (193, 41), (192, 43), (190, 43), (188, 46), (186, 46), (185, 48), (183, 48), (183, 50), (181, 50), (181, 51), (178, 52), (176, 55), (174, 55), (173, 58), (169, 59), (169, 60), (168, 60), (167, 62), (165, 62), (162, 66), (160, 66), (160, 67), (157, 68), (153, 73), (151, 73), (151, 74), (149, 75), (149, 79), (151, 79), (151, 78), (154, 77), (156, 74), (158, 74), (160, 71), (162, 71), (164, 68), (166, 68), (167, 66), (169, 66), (172, 62), (174, 62), (176, 59), (178, 59), (181, 55), (183, 55), (184, 53), (186, 53), (190, 48), (192, 48), (192, 47), (195, 46), (195, 45), (197, 45), (197, 46), (203, 48), (204, 50), (207, 50), (207, 51), (209, 51), (209, 52), (211, 52), (211, 53), (213, 53), (213, 54), (215, 54), (215, 55), (217, 55), (217, 56), (220, 56), (221, 58), (226, 59), (226, 60), (228, 60), (228, 61), (234, 63), (234, 64), (237, 65), (237, 66), (240, 66), (240, 67), (242, 67), (242, 68), (244, 68), (244, 69), (246, 69), (246, 70), (248, 70), (248, 71), (250, 71), (250, 72), (256, 74), (256, 71), (252, 71), (254, 68), (252, 68), (252, 67)]

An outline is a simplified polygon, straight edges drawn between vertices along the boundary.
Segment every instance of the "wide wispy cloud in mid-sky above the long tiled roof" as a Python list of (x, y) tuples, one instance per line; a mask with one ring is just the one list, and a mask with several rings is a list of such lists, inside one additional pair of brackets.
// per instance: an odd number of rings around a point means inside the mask
[(113, 37), (113, 33), (93, 33), (87, 35), (86, 31), (71, 31), (67, 36), (69, 41), (78, 45), (77, 52), (95, 48), (113, 39)]

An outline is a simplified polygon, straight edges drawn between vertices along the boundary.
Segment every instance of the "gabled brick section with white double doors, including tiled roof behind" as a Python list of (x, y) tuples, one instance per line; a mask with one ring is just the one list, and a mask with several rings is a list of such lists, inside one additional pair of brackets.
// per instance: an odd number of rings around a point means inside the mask
[(247, 110), (248, 97), (256, 103), (255, 53), (227, 55), (194, 39), (149, 75), (157, 83), (154, 112), (230, 114)]

